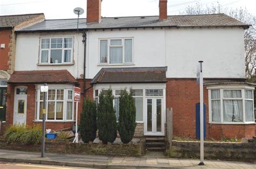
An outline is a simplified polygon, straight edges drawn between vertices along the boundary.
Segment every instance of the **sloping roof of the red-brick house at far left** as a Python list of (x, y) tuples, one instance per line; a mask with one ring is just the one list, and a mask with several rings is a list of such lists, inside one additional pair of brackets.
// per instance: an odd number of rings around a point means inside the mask
[(0, 16), (0, 28), (1, 27), (14, 27), (18, 24), (21, 24), (25, 21), (32, 19), (32, 18), (36, 18), (40, 15), (44, 15), (44, 13)]

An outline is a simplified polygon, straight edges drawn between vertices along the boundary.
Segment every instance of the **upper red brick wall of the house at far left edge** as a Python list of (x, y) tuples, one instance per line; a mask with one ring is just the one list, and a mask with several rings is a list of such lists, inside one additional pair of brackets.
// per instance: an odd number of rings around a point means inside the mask
[(8, 52), (10, 51), (9, 43), (11, 30), (3, 30), (0, 31), (0, 45), (5, 44), (5, 48), (0, 48), (0, 70), (7, 71), (8, 70)]

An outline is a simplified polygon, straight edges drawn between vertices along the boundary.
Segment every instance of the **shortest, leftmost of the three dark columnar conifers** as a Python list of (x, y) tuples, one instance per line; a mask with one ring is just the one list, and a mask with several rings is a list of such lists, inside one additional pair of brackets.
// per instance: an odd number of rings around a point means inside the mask
[(83, 112), (80, 117), (80, 134), (84, 143), (93, 142), (96, 138), (96, 117), (96, 103), (89, 100), (89, 98), (85, 98), (83, 103)]

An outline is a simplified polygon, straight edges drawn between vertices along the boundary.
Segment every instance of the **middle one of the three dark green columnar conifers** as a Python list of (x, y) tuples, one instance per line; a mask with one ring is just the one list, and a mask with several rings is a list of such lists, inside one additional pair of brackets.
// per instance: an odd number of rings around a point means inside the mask
[(99, 139), (104, 144), (113, 143), (117, 137), (117, 118), (113, 108), (113, 99), (111, 88), (99, 94), (97, 125)]

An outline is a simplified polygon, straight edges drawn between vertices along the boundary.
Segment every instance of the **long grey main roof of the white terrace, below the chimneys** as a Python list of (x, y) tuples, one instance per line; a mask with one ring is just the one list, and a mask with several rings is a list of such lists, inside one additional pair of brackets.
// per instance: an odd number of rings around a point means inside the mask
[[(237, 19), (223, 13), (214, 15), (177, 15), (168, 16), (167, 20), (159, 20), (159, 16), (145, 17), (103, 17), (100, 23), (86, 24), (86, 19), (79, 19), (79, 29), (122, 29), (139, 27), (197, 27), (197, 26), (242, 26), (248, 28)], [(44, 20), (41, 23), (26, 27), (18, 32), (42, 31), (74, 31), (77, 19)]]

